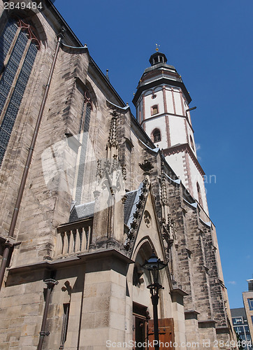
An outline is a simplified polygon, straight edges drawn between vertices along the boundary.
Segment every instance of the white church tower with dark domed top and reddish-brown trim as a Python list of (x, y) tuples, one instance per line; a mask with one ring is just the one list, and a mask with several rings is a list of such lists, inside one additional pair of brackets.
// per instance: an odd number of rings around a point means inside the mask
[(138, 83), (133, 104), (136, 118), (189, 193), (208, 214), (203, 176), (198, 162), (189, 103), (191, 97), (174, 66), (164, 53), (150, 57)]

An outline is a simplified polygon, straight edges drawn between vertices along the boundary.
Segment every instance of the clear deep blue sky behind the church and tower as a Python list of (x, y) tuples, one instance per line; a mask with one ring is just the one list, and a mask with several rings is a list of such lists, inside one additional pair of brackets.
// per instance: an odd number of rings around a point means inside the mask
[[(67, 1), (55, 6), (124, 102), (155, 43), (182, 75), (232, 307), (253, 276), (252, 0)], [(210, 182), (210, 181), (208, 181)]]

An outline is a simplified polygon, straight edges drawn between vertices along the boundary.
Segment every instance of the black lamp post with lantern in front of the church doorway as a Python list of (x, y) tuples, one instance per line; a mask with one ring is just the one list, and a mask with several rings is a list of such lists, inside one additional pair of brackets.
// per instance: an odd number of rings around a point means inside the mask
[(164, 289), (158, 281), (159, 271), (164, 269), (168, 264), (157, 258), (154, 254), (150, 256), (149, 260), (145, 260), (142, 265), (143, 269), (147, 269), (150, 272), (151, 283), (147, 288), (150, 290), (151, 300), (153, 305), (153, 316), (154, 316), (154, 349), (159, 350), (159, 330), (158, 330), (158, 312), (157, 305), (159, 301), (159, 289)]

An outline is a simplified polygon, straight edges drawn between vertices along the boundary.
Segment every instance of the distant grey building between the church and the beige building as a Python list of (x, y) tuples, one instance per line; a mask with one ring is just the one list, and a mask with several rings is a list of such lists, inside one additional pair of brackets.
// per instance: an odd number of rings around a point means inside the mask
[(245, 308), (238, 307), (237, 309), (231, 309), (231, 316), (233, 329), (239, 335), (240, 339), (245, 341), (247, 344), (247, 347), (245, 347), (245, 349), (252, 350), (252, 338), (250, 337), (250, 328), (245, 313)]

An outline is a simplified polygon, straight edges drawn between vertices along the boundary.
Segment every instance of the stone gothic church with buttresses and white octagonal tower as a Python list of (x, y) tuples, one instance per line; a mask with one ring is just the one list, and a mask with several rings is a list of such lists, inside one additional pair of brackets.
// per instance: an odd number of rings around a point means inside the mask
[(154, 52), (133, 116), (41, 4), (0, 3), (0, 349), (232, 349), (182, 77)]

